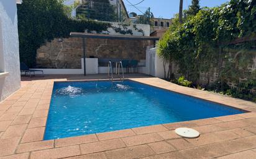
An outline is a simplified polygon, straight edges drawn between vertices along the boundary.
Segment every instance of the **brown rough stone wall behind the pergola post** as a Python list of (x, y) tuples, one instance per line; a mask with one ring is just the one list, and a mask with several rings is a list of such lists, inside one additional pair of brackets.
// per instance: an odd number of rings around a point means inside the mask
[[(149, 41), (86, 39), (86, 58), (145, 59)], [(37, 49), (37, 68), (80, 69), (81, 38), (55, 39)]]

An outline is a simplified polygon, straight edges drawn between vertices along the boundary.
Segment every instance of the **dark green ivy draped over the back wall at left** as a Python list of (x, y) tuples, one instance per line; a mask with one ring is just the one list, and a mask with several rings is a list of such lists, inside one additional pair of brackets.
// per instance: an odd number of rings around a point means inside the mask
[(69, 37), (70, 32), (100, 33), (111, 24), (70, 18), (62, 0), (24, 0), (17, 6), (19, 53), (21, 62), (35, 66), (37, 49), (54, 38)]

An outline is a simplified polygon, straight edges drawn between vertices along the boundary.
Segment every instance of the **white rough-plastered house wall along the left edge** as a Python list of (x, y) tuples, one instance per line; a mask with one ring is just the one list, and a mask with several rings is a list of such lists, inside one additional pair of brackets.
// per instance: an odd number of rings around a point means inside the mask
[(0, 72), (9, 72), (0, 75), (0, 101), (20, 88), (19, 67), (16, 0), (0, 0)]

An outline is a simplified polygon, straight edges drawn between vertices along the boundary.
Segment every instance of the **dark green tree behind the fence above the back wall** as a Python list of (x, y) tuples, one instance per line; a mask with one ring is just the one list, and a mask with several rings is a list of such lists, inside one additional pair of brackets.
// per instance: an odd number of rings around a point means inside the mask
[(83, 17), (83, 19), (116, 22), (117, 14), (115, 10), (109, 0), (83, 1), (77, 9), (77, 15), (78, 17)]

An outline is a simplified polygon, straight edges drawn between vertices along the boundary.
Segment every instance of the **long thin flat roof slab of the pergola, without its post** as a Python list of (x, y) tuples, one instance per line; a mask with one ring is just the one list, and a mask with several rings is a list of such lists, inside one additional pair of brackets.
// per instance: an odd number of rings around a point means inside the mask
[(159, 37), (142, 37), (142, 36), (132, 36), (132, 35), (107, 35), (100, 33), (80, 33), (71, 32), (70, 37), (76, 38), (101, 38), (101, 39), (112, 39), (112, 40), (159, 40)]

